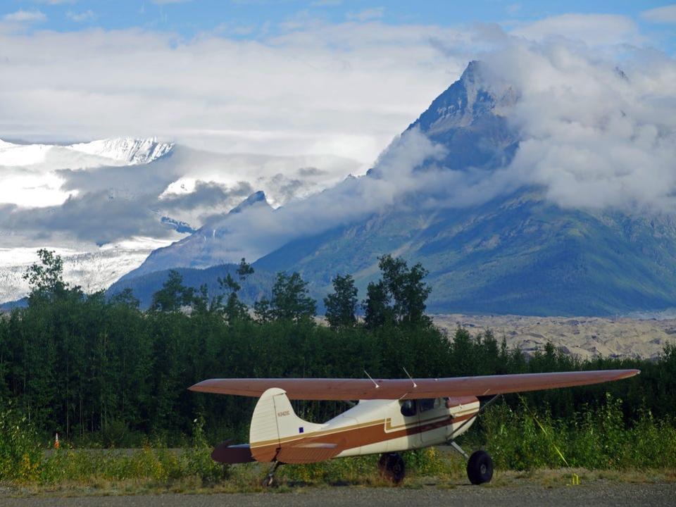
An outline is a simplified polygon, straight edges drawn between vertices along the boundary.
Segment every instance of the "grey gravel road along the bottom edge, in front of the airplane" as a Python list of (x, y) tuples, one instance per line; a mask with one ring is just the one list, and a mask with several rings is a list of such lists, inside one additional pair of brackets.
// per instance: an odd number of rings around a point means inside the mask
[(458, 486), (452, 489), (424, 487), (366, 488), (329, 487), (296, 489), (292, 492), (257, 494), (162, 494), (156, 496), (80, 496), (71, 498), (1, 498), (7, 507), (306, 507), (306, 506), (672, 506), (676, 505), (676, 484), (626, 484), (595, 482), (574, 487), (548, 488)]

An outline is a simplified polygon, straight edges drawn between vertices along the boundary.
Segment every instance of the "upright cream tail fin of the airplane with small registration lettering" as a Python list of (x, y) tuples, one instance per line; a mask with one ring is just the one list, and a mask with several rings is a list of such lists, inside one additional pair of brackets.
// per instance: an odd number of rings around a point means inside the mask
[(256, 461), (273, 461), (282, 447), (294, 446), (294, 441), (322, 426), (299, 418), (287, 392), (271, 387), (261, 394), (253, 409), (249, 429), (251, 456)]

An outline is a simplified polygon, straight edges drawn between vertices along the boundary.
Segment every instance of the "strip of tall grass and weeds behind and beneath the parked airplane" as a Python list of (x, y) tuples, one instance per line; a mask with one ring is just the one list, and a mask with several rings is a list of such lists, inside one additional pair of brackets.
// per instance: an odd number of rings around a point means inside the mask
[[(588, 468), (592, 470), (676, 470), (676, 421), (656, 420), (639, 411), (632, 424), (623, 418), (622, 401), (608, 395), (601, 406), (588, 406), (568, 419), (555, 419), (546, 407), (535, 410), (521, 401), (487, 410), (463, 445), (471, 451), (484, 446), (499, 470)], [(160, 442), (146, 442), (130, 452), (65, 448), (45, 452), (27, 420), (13, 408), (0, 411), (0, 481), (47, 486), (75, 482), (137, 481), (172, 487), (191, 481), (192, 487), (218, 485), (230, 489), (258, 487), (261, 468), (231, 468), (211, 460), (212, 446), (204, 420), (194, 420), (192, 444), (180, 452)], [(404, 454), (408, 477), (440, 479), (464, 475), (462, 460), (434, 448)], [(282, 480), (308, 484), (380, 484), (378, 456), (345, 458), (288, 465)]]

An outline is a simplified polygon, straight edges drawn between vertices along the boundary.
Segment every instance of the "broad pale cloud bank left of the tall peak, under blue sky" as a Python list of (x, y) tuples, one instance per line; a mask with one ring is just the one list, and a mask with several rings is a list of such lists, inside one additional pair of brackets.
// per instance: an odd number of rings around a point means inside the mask
[(264, 40), (0, 32), (0, 138), (157, 135), (227, 153), (335, 154), (363, 172), (461, 72), (466, 55), (449, 58), (431, 37), (467, 40), (382, 23), (301, 25)]

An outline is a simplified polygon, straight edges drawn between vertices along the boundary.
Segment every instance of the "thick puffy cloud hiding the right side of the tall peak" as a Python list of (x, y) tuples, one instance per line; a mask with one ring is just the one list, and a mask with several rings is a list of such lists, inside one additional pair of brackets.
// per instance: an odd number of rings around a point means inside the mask
[(676, 212), (672, 58), (512, 42), (487, 62), (520, 91), (508, 179), (542, 185), (562, 206)]

